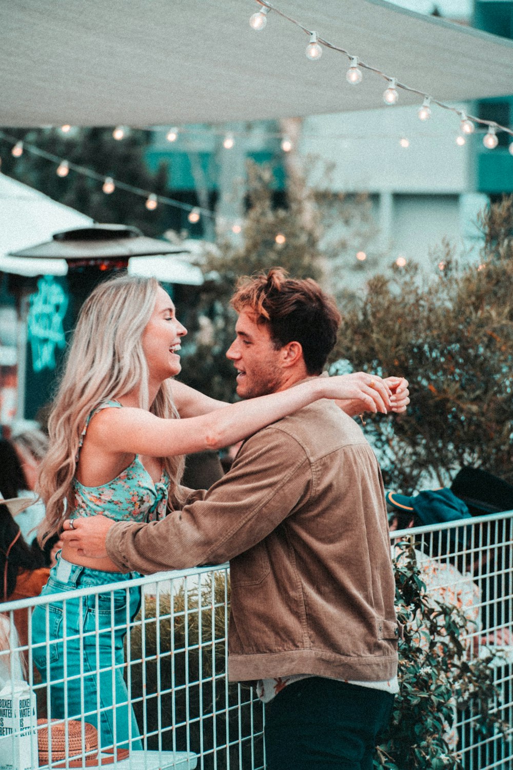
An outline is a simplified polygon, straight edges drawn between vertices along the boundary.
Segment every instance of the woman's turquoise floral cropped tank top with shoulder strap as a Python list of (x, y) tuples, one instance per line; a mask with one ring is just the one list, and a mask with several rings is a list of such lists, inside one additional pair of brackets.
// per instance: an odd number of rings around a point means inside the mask
[[(118, 401), (104, 401), (89, 414), (78, 443), (78, 453), (93, 415), (101, 409), (111, 407), (122, 409), (122, 404)], [(169, 477), (165, 470), (155, 484), (136, 454), (130, 465), (106, 484), (85, 487), (74, 478), (73, 504), (69, 518), (102, 514), (116, 521), (158, 521), (165, 517), (168, 487)]]

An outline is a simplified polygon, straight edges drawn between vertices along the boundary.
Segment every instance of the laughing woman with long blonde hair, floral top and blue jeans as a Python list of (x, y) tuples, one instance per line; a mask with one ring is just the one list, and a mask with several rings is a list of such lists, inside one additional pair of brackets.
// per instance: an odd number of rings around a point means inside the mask
[[(241, 403), (212, 400), (172, 380), (186, 333), (155, 280), (121, 276), (88, 297), (48, 422), (39, 477), (43, 544), (65, 518), (164, 517), (191, 499), (179, 486), (184, 454), (235, 444), (318, 398), (349, 399), (359, 411), (391, 408), (385, 380), (362, 373), (316, 378)], [(108, 588), (134, 576), (65, 545), (42, 594)], [(65, 611), (52, 601), (33, 614), (34, 661), (50, 686), (52, 717), (85, 718), (98, 728), (102, 748), (141, 748), (123, 679), (123, 639), (139, 604), (139, 589), (128, 588), (68, 601)]]

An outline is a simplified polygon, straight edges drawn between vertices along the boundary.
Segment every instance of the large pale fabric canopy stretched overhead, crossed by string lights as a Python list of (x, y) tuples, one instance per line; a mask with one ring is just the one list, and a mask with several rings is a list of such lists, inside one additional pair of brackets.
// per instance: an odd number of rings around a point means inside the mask
[[(382, 0), (275, 0), (306, 28), (444, 102), (511, 94), (513, 42)], [(12, 0), (0, 25), (3, 126), (169, 125), (382, 106), (384, 81), (253, 0)], [(421, 101), (402, 92), (401, 104)], [(387, 108), (390, 109), (390, 108)]]

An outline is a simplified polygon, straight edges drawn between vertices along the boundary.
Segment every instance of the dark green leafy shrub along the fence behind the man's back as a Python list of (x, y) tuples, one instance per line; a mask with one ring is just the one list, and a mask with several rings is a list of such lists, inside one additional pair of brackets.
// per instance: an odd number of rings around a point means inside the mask
[(394, 567), (396, 611), (405, 626), (399, 642), (400, 691), (375, 767), (460, 768), (458, 745), (449, 739), (456, 709), (465, 709), (465, 721), (471, 719), (481, 738), (507, 727), (493, 708), (498, 693), (491, 681), (491, 656), (471, 659), (468, 617), (462, 608), (437, 598), (436, 591), (428, 592), (414, 537), (395, 545)]

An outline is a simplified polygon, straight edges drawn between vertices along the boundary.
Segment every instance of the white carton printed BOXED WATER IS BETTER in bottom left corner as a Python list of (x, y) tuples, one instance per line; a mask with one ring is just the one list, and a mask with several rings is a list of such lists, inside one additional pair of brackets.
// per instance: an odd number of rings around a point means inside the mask
[(8, 681), (0, 690), (0, 770), (37, 767), (35, 693), (26, 681)]

